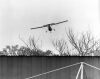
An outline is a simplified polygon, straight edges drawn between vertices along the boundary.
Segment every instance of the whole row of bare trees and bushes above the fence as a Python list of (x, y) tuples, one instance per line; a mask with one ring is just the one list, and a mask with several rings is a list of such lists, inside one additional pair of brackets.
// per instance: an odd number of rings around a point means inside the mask
[(96, 40), (90, 32), (81, 33), (78, 37), (72, 29), (66, 31), (68, 39), (51, 40), (51, 43), (59, 54), (51, 50), (41, 50), (34, 37), (29, 37), (26, 46), (9, 46), (7, 45), (0, 51), (1, 56), (99, 56), (100, 42)]

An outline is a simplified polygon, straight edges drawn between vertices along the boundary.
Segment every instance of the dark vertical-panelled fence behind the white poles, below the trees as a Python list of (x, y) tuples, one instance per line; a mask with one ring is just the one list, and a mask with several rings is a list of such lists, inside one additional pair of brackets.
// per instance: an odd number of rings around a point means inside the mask
[[(100, 68), (100, 57), (0, 57), (0, 79), (25, 79), (79, 62)], [(80, 64), (30, 79), (75, 79), (79, 67)], [(100, 79), (100, 71), (85, 64), (84, 75), (84, 79)]]

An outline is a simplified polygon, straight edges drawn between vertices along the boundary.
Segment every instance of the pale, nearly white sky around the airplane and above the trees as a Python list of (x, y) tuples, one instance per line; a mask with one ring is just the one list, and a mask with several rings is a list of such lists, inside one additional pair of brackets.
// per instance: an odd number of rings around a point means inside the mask
[[(65, 27), (76, 33), (89, 30), (99, 38), (99, 3), (99, 0), (0, 0), (0, 50), (6, 45), (24, 45), (19, 36), (27, 42), (30, 35), (40, 40), (43, 49), (52, 49), (50, 40), (63, 38)], [(30, 30), (67, 19), (68, 22), (53, 26), (52, 33), (46, 33), (47, 28)]]

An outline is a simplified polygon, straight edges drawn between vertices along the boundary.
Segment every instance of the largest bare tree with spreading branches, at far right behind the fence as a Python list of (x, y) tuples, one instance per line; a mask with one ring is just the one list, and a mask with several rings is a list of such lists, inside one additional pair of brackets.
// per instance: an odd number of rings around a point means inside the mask
[(89, 33), (82, 33), (78, 39), (73, 33), (72, 29), (67, 33), (70, 44), (77, 50), (80, 56), (93, 55), (95, 51), (100, 50), (99, 42)]

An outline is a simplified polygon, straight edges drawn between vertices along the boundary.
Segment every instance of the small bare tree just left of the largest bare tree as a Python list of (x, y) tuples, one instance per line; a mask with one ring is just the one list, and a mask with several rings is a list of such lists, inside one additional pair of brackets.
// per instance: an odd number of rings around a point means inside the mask
[(52, 41), (53, 46), (59, 52), (60, 56), (70, 55), (67, 42), (64, 39), (58, 39)]

